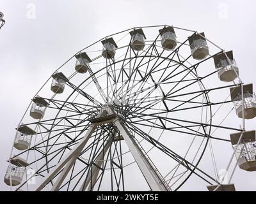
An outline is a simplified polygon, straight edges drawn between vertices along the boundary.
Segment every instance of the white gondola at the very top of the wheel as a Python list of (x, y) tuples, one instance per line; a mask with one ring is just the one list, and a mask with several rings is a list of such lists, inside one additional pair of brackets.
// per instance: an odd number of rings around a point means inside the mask
[(173, 50), (177, 46), (176, 34), (173, 27), (164, 27), (159, 30), (161, 45), (164, 50)]

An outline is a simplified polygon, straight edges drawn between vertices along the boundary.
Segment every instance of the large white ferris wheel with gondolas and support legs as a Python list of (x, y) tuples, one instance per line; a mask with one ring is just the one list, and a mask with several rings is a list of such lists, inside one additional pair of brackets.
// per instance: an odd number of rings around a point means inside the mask
[[(77, 52), (35, 94), (4, 182), (15, 191), (235, 191), (233, 157), (256, 170), (255, 131), (245, 129), (255, 116), (232, 51), (180, 27), (127, 29)], [(231, 159), (216, 148), (226, 146)], [(226, 182), (220, 162), (232, 172)]]

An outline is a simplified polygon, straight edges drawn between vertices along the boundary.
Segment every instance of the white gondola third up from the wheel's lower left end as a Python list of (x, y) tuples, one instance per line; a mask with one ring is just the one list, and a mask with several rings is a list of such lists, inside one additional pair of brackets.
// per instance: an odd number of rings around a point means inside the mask
[(40, 96), (36, 96), (32, 101), (33, 104), (30, 109), (30, 116), (36, 120), (42, 119), (44, 117), (46, 106), (48, 105), (47, 101)]

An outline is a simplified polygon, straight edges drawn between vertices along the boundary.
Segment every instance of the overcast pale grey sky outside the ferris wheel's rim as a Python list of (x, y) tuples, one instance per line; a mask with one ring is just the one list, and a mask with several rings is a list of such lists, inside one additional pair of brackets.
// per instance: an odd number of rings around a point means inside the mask
[[(255, 6), (253, 0), (0, 0), (6, 20), (0, 30), (0, 189), (9, 189), (6, 160), (29, 99), (69, 57), (108, 34), (158, 24), (204, 31), (234, 50), (241, 78), (256, 89)], [(247, 127), (255, 129), (255, 119)], [(255, 191), (255, 176), (237, 169), (237, 189)]]

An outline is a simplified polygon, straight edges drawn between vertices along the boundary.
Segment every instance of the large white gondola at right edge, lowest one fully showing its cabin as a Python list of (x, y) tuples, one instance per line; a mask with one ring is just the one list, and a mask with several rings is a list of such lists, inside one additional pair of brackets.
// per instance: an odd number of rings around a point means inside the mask
[[(256, 171), (256, 138), (255, 130), (243, 133), (239, 144), (241, 133), (230, 134), (232, 147), (236, 149), (237, 164), (242, 170)], [(238, 147), (237, 147), (238, 145)]]

